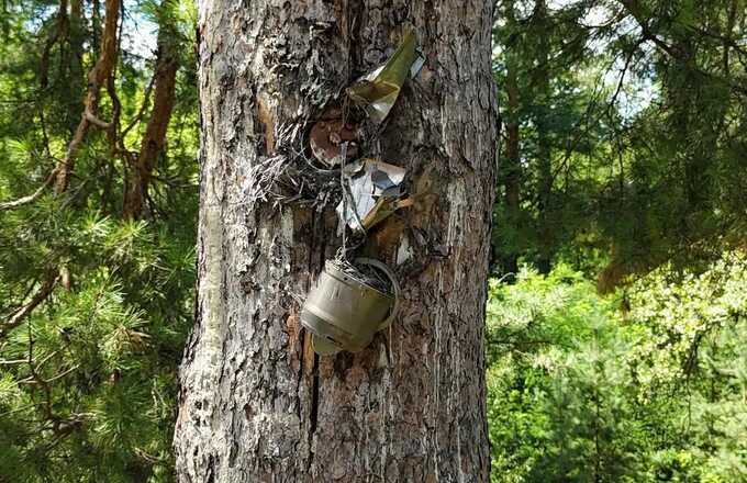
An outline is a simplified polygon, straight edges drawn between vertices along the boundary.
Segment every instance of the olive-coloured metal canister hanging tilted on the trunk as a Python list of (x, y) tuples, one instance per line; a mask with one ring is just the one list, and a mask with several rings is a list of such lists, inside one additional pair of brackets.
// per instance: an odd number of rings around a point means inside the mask
[(378, 260), (361, 258), (356, 263), (382, 270), (393, 293), (383, 293), (327, 261), (301, 310), (301, 324), (313, 334), (314, 350), (321, 356), (363, 350), (397, 315), (399, 285), (391, 270)]

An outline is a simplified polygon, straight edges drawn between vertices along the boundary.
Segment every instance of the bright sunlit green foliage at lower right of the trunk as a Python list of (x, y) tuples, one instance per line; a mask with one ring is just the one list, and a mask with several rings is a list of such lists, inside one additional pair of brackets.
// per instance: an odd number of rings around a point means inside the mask
[(602, 299), (560, 265), (491, 283), (494, 482), (747, 478), (747, 259)]

